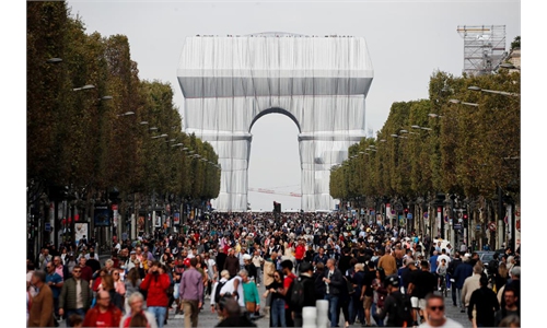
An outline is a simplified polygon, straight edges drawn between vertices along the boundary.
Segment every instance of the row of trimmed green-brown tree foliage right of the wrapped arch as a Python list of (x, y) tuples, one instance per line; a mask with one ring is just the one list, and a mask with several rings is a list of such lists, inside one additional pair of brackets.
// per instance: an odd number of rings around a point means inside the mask
[(519, 199), (520, 81), (505, 70), (473, 78), (433, 72), (429, 99), (394, 103), (376, 139), (349, 148), (349, 159), (331, 169), (330, 195), (478, 199), (499, 186)]

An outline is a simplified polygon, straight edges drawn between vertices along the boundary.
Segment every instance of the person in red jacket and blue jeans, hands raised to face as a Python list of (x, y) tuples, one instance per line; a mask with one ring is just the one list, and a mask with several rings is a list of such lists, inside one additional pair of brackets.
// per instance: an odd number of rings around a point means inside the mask
[(163, 271), (159, 261), (153, 261), (140, 288), (148, 291), (147, 307), (149, 312), (154, 314), (159, 328), (162, 328), (165, 323), (170, 285), (171, 279), (168, 274)]

